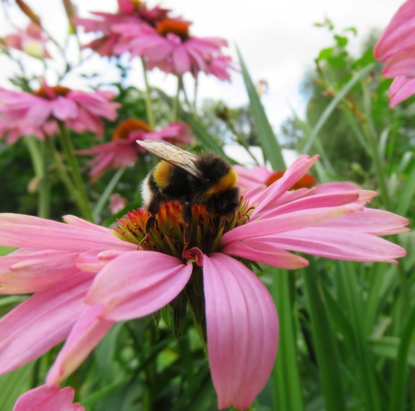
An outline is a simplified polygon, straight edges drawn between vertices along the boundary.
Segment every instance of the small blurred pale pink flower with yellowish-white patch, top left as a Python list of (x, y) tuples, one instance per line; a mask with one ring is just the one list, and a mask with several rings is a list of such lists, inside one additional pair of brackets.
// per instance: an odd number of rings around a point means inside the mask
[(47, 35), (33, 22), (30, 22), (25, 30), (18, 30), (16, 33), (4, 37), (4, 43), (7, 47), (21, 50), (38, 58), (51, 58), (48, 50), (46, 50), (47, 42)]

